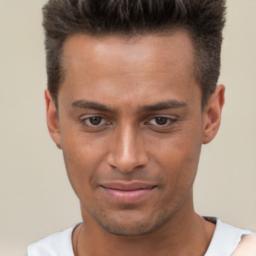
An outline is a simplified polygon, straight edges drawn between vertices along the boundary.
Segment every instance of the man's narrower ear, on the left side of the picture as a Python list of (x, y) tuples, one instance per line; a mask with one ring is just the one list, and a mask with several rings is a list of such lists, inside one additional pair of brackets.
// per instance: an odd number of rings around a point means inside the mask
[(61, 149), (57, 110), (50, 96), (50, 93), (47, 89), (44, 91), (44, 98), (45, 98), (45, 105), (46, 105), (46, 121), (47, 121), (48, 130), (56, 146), (59, 149)]

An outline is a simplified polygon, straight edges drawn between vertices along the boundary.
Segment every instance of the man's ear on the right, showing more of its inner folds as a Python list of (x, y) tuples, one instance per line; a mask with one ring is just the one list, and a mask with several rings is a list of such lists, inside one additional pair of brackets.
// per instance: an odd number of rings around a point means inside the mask
[(209, 143), (217, 134), (224, 104), (225, 87), (217, 85), (203, 110), (203, 144)]

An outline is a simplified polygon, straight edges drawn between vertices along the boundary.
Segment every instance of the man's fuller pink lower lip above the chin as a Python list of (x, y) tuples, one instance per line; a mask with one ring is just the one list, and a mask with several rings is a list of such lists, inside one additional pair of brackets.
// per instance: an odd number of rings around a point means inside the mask
[(135, 190), (118, 190), (113, 188), (108, 188), (101, 186), (105, 193), (114, 201), (118, 203), (135, 203), (145, 199), (154, 189), (150, 188), (141, 188)]

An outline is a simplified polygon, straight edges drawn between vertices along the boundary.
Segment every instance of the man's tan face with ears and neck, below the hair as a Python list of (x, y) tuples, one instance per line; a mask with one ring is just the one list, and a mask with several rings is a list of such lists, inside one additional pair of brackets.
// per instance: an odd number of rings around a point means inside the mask
[[(50, 135), (80, 200), (74, 254), (203, 255), (215, 225), (194, 212), (192, 184), (201, 145), (219, 127), (224, 86), (201, 109), (187, 33), (75, 34), (63, 60), (59, 121), (47, 90), (45, 100)], [(111, 197), (109, 182), (149, 188)]]

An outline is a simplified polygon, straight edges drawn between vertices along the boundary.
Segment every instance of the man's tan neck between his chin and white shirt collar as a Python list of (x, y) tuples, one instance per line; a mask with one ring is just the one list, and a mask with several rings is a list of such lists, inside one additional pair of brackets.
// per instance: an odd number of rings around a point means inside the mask
[(215, 225), (194, 212), (192, 195), (188, 197), (171, 219), (144, 235), (111, 234), (83, 216), (83, 224), (73, 232), (75, 256), (204, 255)]

